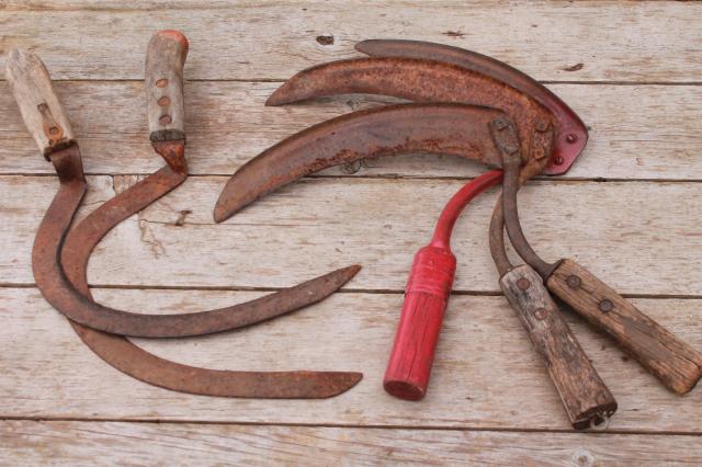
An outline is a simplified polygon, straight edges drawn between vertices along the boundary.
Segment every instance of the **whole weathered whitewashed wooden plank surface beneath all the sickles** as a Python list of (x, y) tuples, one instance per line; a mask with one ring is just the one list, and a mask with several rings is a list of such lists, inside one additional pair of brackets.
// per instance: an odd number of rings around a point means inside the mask
[(620, 409), (608, 433), (569, 429), (498, 292), (486, 244), (495, 191), (456, 227), (456, 293), (427, 399), (382, 390), (411, 258), (443, 203), (482, 171), (475, 163), (403, 156), (337, 168), (212, 220), (226, 178), (249, 158), (310, 124), (390, 101), (264, 107), (286, 77), (356, 56), (364, 38), (471, 48), (542, 80), (591, 128), (568, 174), (523, 192), (535, 248), (577, 258), (702, 349), (702, 3), (0, 1), (0, 67), (8, 49), (25, 46), (58, 80), (90, 174), (80, 216), (161, 166), (147, 140), (145, 48), (160, 29), (191, 41), (192, 175), (98, 247), (89, 280), (99, 300), (195, 311), (363, 265), (341, 293), (294, 315), (139, 345), (215, 368), (365, 375), (328, 400), (231, 400), (151, 387), (93, 355), (34, 286), (31, 246), (57, 181), (0, 81), (1, 464), (702, 463), (702, 389), (673, 396), (570, 315)]

